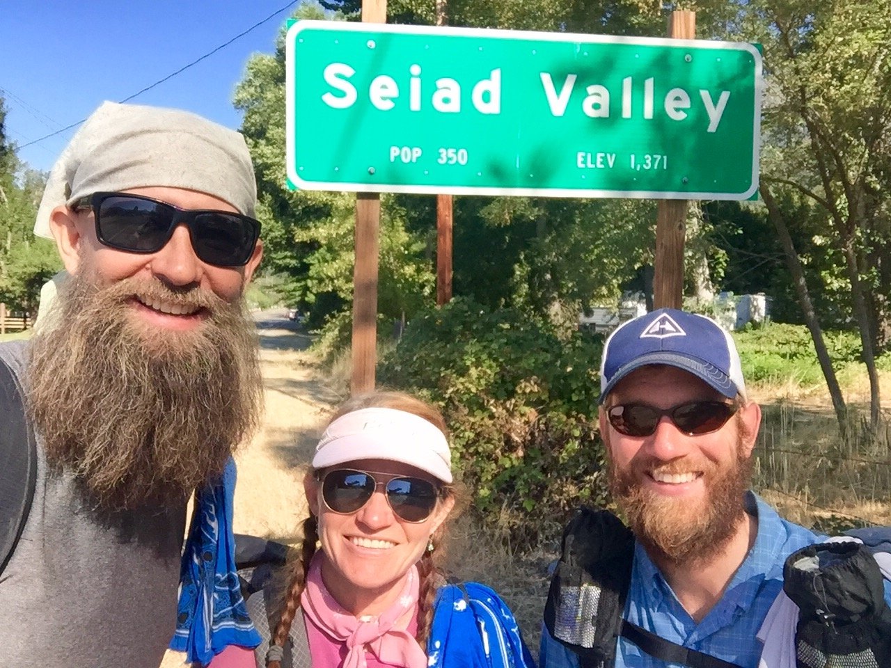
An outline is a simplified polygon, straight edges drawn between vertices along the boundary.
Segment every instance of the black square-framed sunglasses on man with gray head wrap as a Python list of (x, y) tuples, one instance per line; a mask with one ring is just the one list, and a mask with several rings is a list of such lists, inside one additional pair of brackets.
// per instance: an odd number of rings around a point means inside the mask
[(247, 264), (260, 235), (249, 216), (214, 209), (183, 209), (127, 192), (94, 192), (77, 200), (75, 210), (92, 208), (96, 237), (110, 248), (131, 253), (157, 253), (176, 226), (189, 228), (195, 255), (208, 265)]

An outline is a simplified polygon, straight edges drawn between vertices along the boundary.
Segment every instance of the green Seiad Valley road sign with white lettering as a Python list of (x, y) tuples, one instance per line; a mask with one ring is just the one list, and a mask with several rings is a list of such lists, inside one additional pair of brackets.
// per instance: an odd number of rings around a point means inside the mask
[(300, 189), (745, 200), (755, 45), (297, 21), (287, 163)]

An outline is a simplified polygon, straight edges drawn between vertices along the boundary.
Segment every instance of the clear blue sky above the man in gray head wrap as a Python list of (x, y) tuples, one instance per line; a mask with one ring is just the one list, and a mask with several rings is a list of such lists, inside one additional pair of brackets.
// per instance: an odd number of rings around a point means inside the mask
[[(289, 0), (0, 0), (0, 96), (22, 146), (119, 102), (213, 51)], [(252, 53), (273, 53), (293, 4), (133, 102), (194, 111), (237, 129), (235, 85)], [(18, 151), (48, 170), (77, 128)]]

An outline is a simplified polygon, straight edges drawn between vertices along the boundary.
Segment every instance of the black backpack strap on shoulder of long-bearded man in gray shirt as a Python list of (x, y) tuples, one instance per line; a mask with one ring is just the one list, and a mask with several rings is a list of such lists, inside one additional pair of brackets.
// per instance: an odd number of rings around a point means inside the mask
[(19, 379), (0, 359), (0, 574), (12, 558), (37, 486), (34, 439)]

